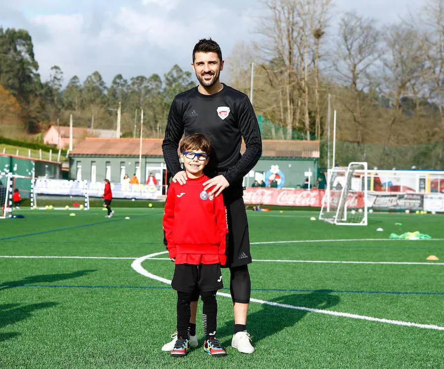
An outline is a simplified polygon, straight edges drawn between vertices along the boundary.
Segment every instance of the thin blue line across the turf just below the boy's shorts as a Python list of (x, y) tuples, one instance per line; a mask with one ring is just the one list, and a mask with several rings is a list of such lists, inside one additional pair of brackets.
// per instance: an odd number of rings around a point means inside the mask
[[(46, 284), (0, 284), (2, 287), (51, 287), (51, 288), (114, 288), (114, 289), (148, 289), (148, 290), (171, 290), (170, 286), (73, 286), (73, 285), (46, 285)], [(229, 291), (229, 288), (222, 288)], [(285, 288), (252, 288), (252, 291), (265, 292), (318, 292), (318, 293), (344, 293), (344, 294), (379, 294), (379, 295), (437, 295), (442, 296), (444, 292), (395, 292), (395, 291), (347, 291), (347, 290), (300, 290)]]

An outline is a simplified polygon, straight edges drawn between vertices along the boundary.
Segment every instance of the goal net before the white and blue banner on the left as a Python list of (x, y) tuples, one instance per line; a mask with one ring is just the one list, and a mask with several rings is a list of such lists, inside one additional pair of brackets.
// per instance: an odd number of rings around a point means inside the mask
[(31, 189), (31, 208), (40, 210), (88, 210), (86, 181), (37, 178)]

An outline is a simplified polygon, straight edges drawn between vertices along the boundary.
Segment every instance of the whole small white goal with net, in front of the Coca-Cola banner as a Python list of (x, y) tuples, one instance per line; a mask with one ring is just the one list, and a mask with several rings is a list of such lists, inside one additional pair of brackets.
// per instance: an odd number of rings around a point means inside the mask
[(336, 225), (367, 226), (367, 163), (328, 170), (319, 219)]

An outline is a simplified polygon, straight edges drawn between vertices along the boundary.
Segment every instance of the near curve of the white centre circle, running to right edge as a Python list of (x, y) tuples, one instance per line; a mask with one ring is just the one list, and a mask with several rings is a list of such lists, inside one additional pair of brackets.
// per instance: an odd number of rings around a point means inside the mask
[[(136, 259), (132, 264), (131, 267), (137, 271), (138, 273), (145, 275), (148, 278), (154, 279), (156, 281), (171, 284), (171, 280), (159, 277), (158, 275), (150, 273), (147, 269), (142, 267), (142, 263), (145, 260), (148, 260), (150, 258), (153, 258), (155, 256), (166, 254), (168, 251), (162, 251), (162, 252), (156, 252), (153, 254), (149, 254), (146, 256), (142, 256), (141, 258)], [(217, 293), (219, 296), (228, 297), (231, 299), (230, 294), (226, 294), (223, 292)], [(278, 302), (271, 302), (271, 301), (264, 301), (259, 299), (250, 299), (250, 302), (257, 302), (263, 305), (270, 305), (270, 306), (279, 306), (279, 307), (285, 307), (288, 309), (295, 309), (295, 310), (302, 310), (302, 311), (309, 311), (313, 313), (321, 313), (321, 314), (327, 314), (327, 315), (334, 315), (334, 316), (342, 316), (346, 318), (353, 318), (353, 319), (361, 319), (361, 320), (367, 320), (372, 322), (380, 322), (380, 323), (388, 323), (388, 324), (394, 324), (398, 326), (405, 326), (405, 327), (416, 327), (416, 328), (424, 328), (424, 329), (434, 329), (438, 331), (444, 331), (444, 327), (433, 325), (433, 324), (418, 324), (418, 323), (412, 323), (412, 322), (404, 322), (401, 320), (391, 320), (391, 319), (383, 319), (383, 318), (374, 318), (372, 316), (366, 316), (366, 315), (357, 315), (357, 314), (350, 314), (350, 313), (344, 313), (339, 311), (331, 311), (331, 310), (324, 310), (324, 309), (314, 309), (311, 307), (304, 307), (304, 306), (296, 306), (296, 305), (289, 305), (286, 303), (278, 303)]]

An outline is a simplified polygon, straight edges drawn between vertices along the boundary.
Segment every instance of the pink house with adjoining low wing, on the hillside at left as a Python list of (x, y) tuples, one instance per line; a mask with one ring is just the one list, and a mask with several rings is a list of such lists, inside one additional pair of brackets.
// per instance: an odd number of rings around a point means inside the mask
[[(91, 130), (86, 127), (73, 127), (73, 146), (86, 137), (115, 138), (113, 130)], [(70, 127), (51, 126), (43, 137), (43, 143), (58, 149), (68, 149), (70, 146)]]

